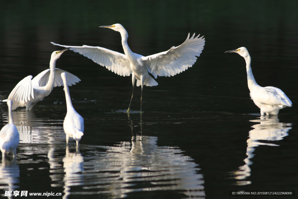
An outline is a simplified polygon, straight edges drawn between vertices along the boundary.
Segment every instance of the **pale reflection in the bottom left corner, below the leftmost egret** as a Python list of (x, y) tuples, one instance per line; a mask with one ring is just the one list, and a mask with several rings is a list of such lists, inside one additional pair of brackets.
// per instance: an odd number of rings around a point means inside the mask
[(0, 189), (4, 191), (14, 191), (19, 188), (19, 186), (16, 185), (19, 183), (19, 177), (20, 169), (16, 163), (16, 158), (12, 160), (2, 158), (2, 164), (0, 166)]

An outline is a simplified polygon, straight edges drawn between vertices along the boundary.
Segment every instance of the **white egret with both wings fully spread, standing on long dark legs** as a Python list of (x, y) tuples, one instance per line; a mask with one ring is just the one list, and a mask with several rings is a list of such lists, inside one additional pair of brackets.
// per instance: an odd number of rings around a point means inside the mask
[[(122, 47), (125, 55), (112, 50), (108, 50), (102, 47), (93, 46), (64, 46), (60, 44), (54, 45), (70, 47), (77, 53), (92, 59), (97, 64), (105, 66), (108, 70), (115, 72), (118, 75), (129, 76), (132, 74), (132, 95), (131, 101), (134, 97), (134, 84), (136, 81), (136, 86), (157, 86), (157, 82), (148, 74), (148, 71), (155, 77), (157, 76), (174, 76), (177, 73), (187, 70), (188, 67), (192, 67), (196, 59), (202, 53), (205, 44), (205, 38), (200, 37), (200, 35), (195, 37), (195, 34), (190, 38), (188, 33), (186, 41), (178, 47), (171, 47), (170, 50), (164, 51), (162, 53), (150, 55), (144, 57), (133, 53), (128, 45), (127, 38), (128, 33), (121, 24), (114, 24), (111, 26), (100, 26), (104, 28), (110, 28), (112, 30), (118, 31), (122, 38)], [(197, 56), (197, 57), (195, 57)], [(142, 112), (142, 94), (141, 94), (141, 112)], [(128, 107), (128, 112), (131, 107), (131, 102)]]

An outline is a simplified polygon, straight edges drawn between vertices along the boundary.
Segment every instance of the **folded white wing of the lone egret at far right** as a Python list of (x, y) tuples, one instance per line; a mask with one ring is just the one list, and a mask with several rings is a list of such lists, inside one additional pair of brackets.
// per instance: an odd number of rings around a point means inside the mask
[(275, 87), (260, 87), (250, 93), (251, 98), (254, 101), (279, 106), (292, 106), (291, 100), (285, 95), (285, 93), (279, 88)]

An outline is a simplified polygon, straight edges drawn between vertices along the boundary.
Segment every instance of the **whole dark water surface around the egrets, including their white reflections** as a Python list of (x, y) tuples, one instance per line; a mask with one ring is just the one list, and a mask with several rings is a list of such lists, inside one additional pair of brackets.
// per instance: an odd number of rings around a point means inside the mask
[[(73, 140), (66, 146), (62, 87), (32, 111), (16, 109), (20, 144), (16, 161), (0, 166), (0, 194), (178, 199), (297, 190), (297, 1), (1, 1), (0, 100), (24, 77), (49, 68), (51, 53), (62, 49), (50, 41), (123, 53), (120, 34), (98, 28), (115, 23), (126, 28), (131, 50), (144, 56), (180, 45), (189, 32), (205, 36), (205, 49), (185, 72), (144, 87), (142, 116), (140, 87), (125, 112), (131, 76), (63, 53), (56, 67), (82, 80), (70, 87), (85, 122), (80, 146)], [(282, 89), (293, 107), (260, 116), (249, 97), (245, 60), (224, 53), (242, 46), (257, 83)], [(2, 128), (6, 103), (0, 110)]]

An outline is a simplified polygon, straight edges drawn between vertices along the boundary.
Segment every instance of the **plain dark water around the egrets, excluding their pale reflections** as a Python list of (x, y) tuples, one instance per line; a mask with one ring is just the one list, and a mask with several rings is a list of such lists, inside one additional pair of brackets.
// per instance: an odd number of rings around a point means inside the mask
[[(51, 53), (62, 49), (50, 41), (123, 53), (120, 34), (98, 28), (120, 23), (128, 32), (131, 50), (148, 56), (180, 45), (189, 32), (204, 35), (204, 50), (193, 67), (173, 77), (158, 77), (158, 86), (145, 87), (142, 123), (156, 124), (143, 125), (142, 134), (158, 137), (158, 146), (178, 146), (193, 158), (204, 175), (206, 198), (230, 198), (228, 191), (232, 189), (297, 190), (297, 1), (0, 3), (1, 100), (7, 99), (22, 78), (49, 68)], [(293, 107), (282, 109), (278, 116), (280, 122), (292, 123), (293, 129), (283, 140), (274, 142), (280, 146), (256, 147), (251, 176), (246, 179), (252, 184), (246, 186), (234, 186), (229, 172), (244, 164), (246, 140), (255, 124), (249, 120), (259, 117), (250, 114), (259, 114), (260, 109), (249, 97), (245, 60), (235, 53), (224, 53), (239, 47), (248, 49), (257, 83), (280, 88), (293, 102)], [(70, 87), (74, 107), (85, 121), (81, 144), (113, 146), (131, 140), (128, 117), (123, 113), (131, 98), (131, 76), (114, 74), (72, 51), (63, 53), (56, 67), (82, 80)], [(139, 98), (140, 88), (136, 87), (130, 116), (138, 125), (134, 130), (137, 134), (141, 131)], [(65, 103), (54, 105), (56, 99), (65, 101), (62, 88), (54, 88), (45, 101), (35, 105), (35, 117), (63, 120)], [(6, 104), (0, 104), (0, 109), (2, 127), (6, 124)], [(174, 124), (177, 122), (180, 124)], [(62, 127), (62, 123), (54, 125)], [(20, 171), (22, 188), (30, 178), (24, 177), (27, 170), (21, 166)], [(38, 189), (51, 189), (50, 182), (37, 182)], [(144, 193), (128, 197), (143, 198)]]

